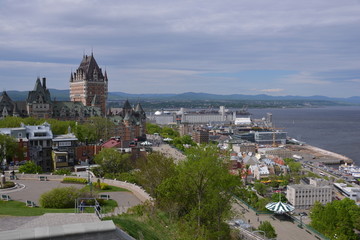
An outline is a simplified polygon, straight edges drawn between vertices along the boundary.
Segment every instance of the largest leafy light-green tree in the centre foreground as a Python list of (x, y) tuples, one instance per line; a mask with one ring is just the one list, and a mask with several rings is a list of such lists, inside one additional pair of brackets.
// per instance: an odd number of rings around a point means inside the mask
[(204, 236), (206, 230), (209, 238), (225, 238), (229, 229), (223, 220), (230, 213), (239, 180), (229, 174), (214, 146), (194, 147), (186, 154), (175, 175), (158, 187), (158, 200), (176, 206), (178, 216), (194, 226), (196, 236)]

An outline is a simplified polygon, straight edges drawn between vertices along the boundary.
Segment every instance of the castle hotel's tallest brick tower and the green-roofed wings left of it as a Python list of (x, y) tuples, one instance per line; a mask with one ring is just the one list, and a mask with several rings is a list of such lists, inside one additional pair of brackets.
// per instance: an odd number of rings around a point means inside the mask
[(89, 117), (105, 116), (108, 78), (96, 60), (84, 55), (79, 68), (70, 76), (70, 100), (51, 99), (46, 78), (36, 79), (25, 101), (12, 101), (4, 91), (0, 96), (0, 118), (6, 116), (55, 118), (84, 121)]

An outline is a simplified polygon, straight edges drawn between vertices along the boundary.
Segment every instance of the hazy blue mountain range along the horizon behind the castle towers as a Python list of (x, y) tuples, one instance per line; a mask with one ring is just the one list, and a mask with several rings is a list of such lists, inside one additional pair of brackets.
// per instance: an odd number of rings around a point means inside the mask
[[(57, 101), (69, 101), (69, 90), (57, 90), (49, 89), (52, 99)], [(28, 95), (28, 91), (7, 91), (8, 95), (14, 101), (25, 100)], [(142, 101), (235, 101), (235, 100), (258, 100), (258, 101), (330, 101), (336, 103), (348, 103), (348, 104), (360, 104), (360, 96), (354, 96), (349, 98), (331, 98), (326, 96), (270, 96), (266, 94), (259, 95), (243, 95), (243, 94), (231, 94), (220, 95), (210, 93), (196, 93), (186, 92), (181, 94), (130, 94), (124, 92), (109, 92), (108, 101), (123, 101), (129, 100), (142, 100)]]

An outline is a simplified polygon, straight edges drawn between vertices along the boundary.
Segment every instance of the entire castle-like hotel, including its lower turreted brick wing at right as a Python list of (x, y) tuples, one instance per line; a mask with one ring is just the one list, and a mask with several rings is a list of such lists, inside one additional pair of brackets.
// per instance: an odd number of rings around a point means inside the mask
[(90, 117), (107, 116), (116, 125), (113, 135), (125, 141), (125, 145), (145, 138), (146, 115), (141, 105), (133, 108), (126, 100), (122, 110), (107, 111), (107, 95), (106, 71), (102, 72), (93, 54), (84, 55), (78, 69), (70, 74), (70, 101), (51, 99), (46, 78), (37, 78), (25, 101), (12, 101), (6, 91), (0, 95), (0, 119), (18, 116), (82, 122)]

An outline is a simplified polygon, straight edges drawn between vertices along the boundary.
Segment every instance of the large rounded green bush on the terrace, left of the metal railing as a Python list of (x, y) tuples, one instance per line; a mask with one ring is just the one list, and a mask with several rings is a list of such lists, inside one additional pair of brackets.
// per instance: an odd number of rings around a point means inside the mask
[(75, 200), (80, 197), (80, 191), (75, 187), (54, 188), (40, 196), (43, 208), (72, 208)]

